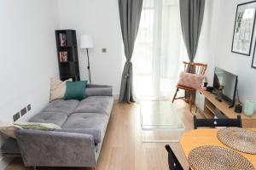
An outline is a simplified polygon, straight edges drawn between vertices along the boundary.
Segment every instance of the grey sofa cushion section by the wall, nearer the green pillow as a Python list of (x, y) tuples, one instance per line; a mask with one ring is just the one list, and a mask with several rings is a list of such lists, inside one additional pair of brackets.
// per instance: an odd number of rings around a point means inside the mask
[(58, 99), (49, 103), (42, 112), (59, 112), (68, 115), (74, 111), (77, 105), (79, 105), (79, 101), (75, 99)]

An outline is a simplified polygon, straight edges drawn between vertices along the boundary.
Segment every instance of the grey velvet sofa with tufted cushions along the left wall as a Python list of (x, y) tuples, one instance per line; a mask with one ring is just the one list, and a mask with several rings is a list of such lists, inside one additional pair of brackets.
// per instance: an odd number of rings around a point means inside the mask
[(20, 154), (26, 167), (96, 167), (113, 108), (112, 88), (89, 85), (86, 99), (55, 100), (29, 122), (50, 122), (55, 131), (20, 129), (2, 146), (7, 156)]

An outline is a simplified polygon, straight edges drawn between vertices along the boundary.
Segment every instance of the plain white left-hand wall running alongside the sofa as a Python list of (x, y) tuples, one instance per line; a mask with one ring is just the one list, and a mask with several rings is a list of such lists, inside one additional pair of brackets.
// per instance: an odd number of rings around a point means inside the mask
[[(32, 104), (26, 120), (49, 102), (49, 77), (58, 77), (56, 0), (0, 0), (0, 122)], [(3, 136), (0, 136), (0, 145)], [(0, 169), (8, 163), (0, 156)]]

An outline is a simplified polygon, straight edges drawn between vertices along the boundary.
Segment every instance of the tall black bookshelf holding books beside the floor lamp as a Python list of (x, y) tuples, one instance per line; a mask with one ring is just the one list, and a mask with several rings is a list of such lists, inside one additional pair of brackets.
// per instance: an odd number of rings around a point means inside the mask
[(61, 80), (72, 78), (73, 81), (79, 81), (79, 54), (76, 31), (56, 30), (55, 37)]

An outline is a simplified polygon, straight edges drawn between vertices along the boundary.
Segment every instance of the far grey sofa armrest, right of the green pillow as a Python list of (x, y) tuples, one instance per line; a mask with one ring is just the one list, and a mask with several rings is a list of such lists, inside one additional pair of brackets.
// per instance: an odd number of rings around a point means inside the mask
[(113, 96), (112, 88), (85, 88), (87, 96)]

